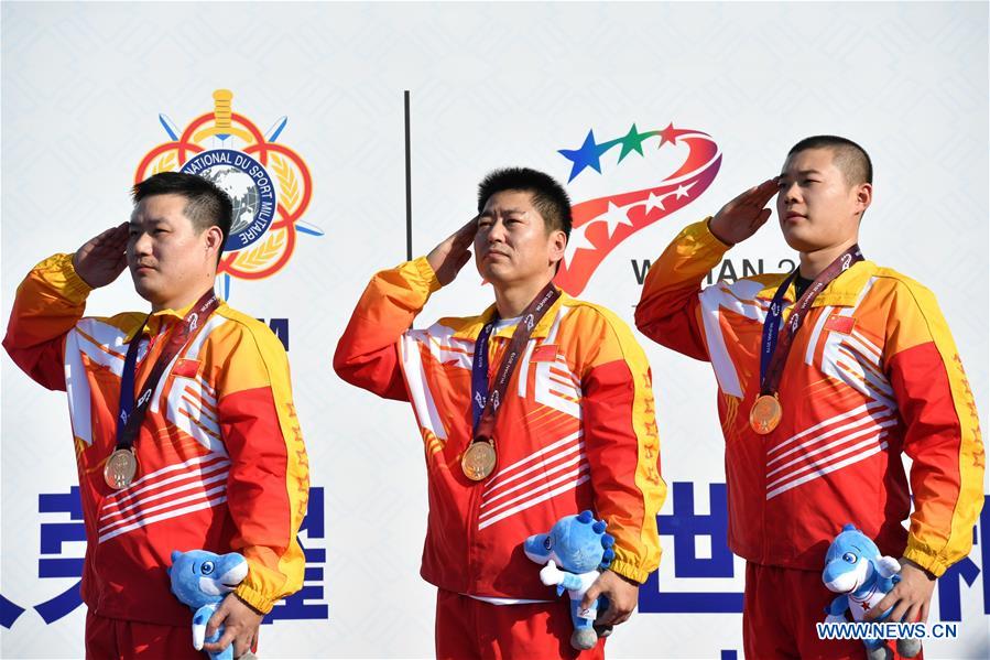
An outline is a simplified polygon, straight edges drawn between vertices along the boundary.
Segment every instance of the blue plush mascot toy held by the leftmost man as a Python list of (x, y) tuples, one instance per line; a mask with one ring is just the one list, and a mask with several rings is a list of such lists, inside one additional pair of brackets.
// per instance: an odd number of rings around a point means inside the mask
[[(248, 575), (248, 562), (237, 552), (216, 554), (205, 550), (172, 552), (168, 578), (172, 593), (193, 612), (193, 647), (203, 650), (204, 642), (217, 641), (224, 627), (206, 637), (206, 624), (224, 597), (232, 592)], [(210, 652), (211, 660), (233, 660), (233, 645), (219, 653)]]

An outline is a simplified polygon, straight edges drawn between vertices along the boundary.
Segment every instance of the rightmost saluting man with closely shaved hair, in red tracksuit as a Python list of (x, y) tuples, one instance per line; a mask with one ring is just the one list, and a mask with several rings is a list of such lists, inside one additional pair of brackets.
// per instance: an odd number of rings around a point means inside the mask
[[(798, 270), (703, 290), (768, 220), (774, 195)], [(803, 140), (779, 177), (674, 239), (637, 307), (646, 336), (715, 370), (750, 658), (863, 657), (859, 640), (822, 640), (815, 627), (835, 597), (822, 571), (844, 524), (901, 558), (901, 582), (870, 613), (892, 607), (891, 620), (925, 619), (935, 578), (972, 543), (983, 499), (976, 404), (932, 292), (862, 259), (871, 201), (861, 147)]]

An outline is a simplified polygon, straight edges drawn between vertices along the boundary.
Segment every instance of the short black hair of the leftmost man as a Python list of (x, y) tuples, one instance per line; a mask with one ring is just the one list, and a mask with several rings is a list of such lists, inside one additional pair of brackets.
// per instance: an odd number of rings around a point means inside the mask
[(154, 195), (182, 195), (186, 198), (183, 214), (189, 218), (199, 234), (210, 227), (219, 227), (224, 242), (217, 252), (217, 261), (224, 253), (230, 224), (233, 220), (233, 203), (217, 184), (196, 174), (184, 172), (159, 172), (131, 188), (134, 205)]

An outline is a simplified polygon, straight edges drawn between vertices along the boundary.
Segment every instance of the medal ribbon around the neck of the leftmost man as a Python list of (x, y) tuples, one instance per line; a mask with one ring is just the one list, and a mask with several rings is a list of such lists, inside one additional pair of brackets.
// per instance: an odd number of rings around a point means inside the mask
[(152, 367), (151, 374), (148, 375), (148, 380), (144, 381), (141, 394), (135, 399), (134, 376), (138, 365), (138, 345), (141, 343), (141, 333), (144, 332), (144, 326), (148, 325), (151, 314), (144, 318), (144, 323), (141, 324), (138, 333), (131, 339), (127, 357), (123, 360), (123, 374), (120, 377), (120, 416), (117, 419), (118, 450), (130, 450), (134, 445), (138, 431), (144, 421), (144, 414), (151, 404), (151, 394), (157, 388), (165, 368), (182, 351), (193, 331), (199, 327), (219, 305), (220, 301), (217, 300), (217, 295), (213, 290), (207, 291), (196, 301), (196, 304), (189, 309), (179, 326), (172, 331), (168, 343), (155, 361), (154, 367)]

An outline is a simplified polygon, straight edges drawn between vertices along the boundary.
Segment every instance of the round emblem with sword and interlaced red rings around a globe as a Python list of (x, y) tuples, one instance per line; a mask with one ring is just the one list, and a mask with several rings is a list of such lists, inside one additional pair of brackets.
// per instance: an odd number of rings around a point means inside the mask
[(178, 171), (203, 176), (230, 195), (233, 220), (218, 269), (226, 297), (231, 279), (260, 280), (278, 273), (292, 259), (300, 235), (323, 236), (323, 231), (303, 220), (313, 195), (309, 169), (279, 141), (289, 119), (280, 118), (262, 133), (233, 111), (232, 91), (217, 89), (213, 97), (213, 111), (182, 130), (159, 115), (170, 141), (144, 155), (134, 182)]

